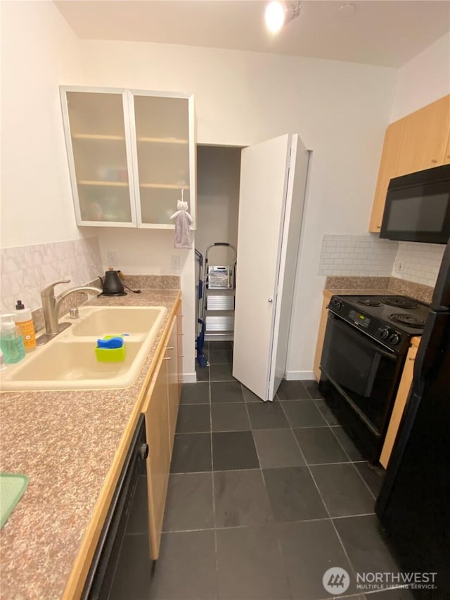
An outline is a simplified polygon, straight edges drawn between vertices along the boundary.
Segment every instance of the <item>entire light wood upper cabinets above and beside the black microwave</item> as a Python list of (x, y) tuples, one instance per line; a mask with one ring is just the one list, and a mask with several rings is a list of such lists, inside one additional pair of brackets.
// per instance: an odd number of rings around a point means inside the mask
[(386, 130), (368, 230), (379, 232), (392, 177), (450, 162), (450, 94), (393, 122)]

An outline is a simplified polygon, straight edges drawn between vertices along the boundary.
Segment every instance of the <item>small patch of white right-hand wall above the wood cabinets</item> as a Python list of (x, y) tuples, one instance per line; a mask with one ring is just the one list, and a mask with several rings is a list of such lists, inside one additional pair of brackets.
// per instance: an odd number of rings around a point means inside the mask
[(450, 94), (450, 32), (399, 69), (390, 122)]

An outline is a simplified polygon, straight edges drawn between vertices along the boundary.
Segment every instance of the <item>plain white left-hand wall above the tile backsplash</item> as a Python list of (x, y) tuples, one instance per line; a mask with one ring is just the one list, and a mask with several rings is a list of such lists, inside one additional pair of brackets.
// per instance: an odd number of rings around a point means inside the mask
[(58, 86), (79, 82), (79, 41), (51, 2), (1, 2), (1, 247), (81, 238)]

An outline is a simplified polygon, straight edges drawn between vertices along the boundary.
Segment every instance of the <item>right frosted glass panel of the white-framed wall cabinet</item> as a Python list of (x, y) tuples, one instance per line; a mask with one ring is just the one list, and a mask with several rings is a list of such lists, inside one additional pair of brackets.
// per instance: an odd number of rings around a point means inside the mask
[(139, 225), (173, 227), (181, 189), (191, 210), (189, 99), (135, 94), (133, 100)]

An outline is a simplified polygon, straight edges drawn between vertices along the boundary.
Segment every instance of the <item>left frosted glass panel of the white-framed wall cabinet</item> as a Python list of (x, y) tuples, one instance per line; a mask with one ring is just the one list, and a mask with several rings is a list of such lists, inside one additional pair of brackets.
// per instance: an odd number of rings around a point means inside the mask
[(122, 93), (65, 94), (78, 224), (134, 225)]

